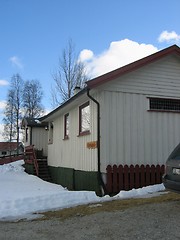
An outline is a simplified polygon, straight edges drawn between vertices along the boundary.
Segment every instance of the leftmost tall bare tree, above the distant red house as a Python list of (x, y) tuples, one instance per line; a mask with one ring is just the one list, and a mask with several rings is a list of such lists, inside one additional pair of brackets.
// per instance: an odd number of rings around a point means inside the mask
[(9, 136), (8, 140), (10, 142), (16, 139), (17, 144), (19, 144), (20, 134), (19, 125), (20, 120), (22, 118), (21, 107), (22, 107), (23, 83), (24, 82), (19, 74), (15, 74), (12, 76), (4, 118), (5, 135)]

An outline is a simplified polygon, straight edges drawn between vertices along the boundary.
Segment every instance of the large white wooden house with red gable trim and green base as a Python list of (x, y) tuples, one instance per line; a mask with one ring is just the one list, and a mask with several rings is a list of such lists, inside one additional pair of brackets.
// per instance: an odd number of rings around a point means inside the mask
[[(173, 45), (88, 81), (41, 120), (48, 122), (53, 181), (69, 189), (105, 190), (110, 165), (161, 169), (180, 142), (180, 48)], [(133, 178), (131, 172), (124, 177)]]

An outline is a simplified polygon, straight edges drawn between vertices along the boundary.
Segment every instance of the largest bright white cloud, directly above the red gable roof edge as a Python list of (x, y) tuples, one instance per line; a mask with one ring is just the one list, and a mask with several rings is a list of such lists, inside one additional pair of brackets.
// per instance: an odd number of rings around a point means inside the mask
[(87, 68), (87, 72), (91, 73), (90, 77), (96, 77), (157, 51), (158, 49), (151, 44), (139, 44), (124, 39), (111, 42), (109, 48), (97, 56), (91, 50), (82, 50), (80, 57)]

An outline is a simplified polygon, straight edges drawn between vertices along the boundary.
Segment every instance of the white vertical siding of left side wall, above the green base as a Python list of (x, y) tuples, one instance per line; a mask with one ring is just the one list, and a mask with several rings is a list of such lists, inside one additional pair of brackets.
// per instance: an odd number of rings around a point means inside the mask
[[(88, 98), (86, 99), (88, 101)], [(85, 101), (85, 102), (86, 102)], [(84, 102), (83, 102), (84, 103)], [(82, 104), (83, 104), (82, 103)], [(79, 106), (69, 109), (53, 121), (53, 141), (48, 144), (48, 163), (54, 167), (97, 171), (97, 148), (89, 149), (87, 143), (97, 140), (96, 105), (90, 102), (90, 134), (79, 135)], [(69, 138), (64, 139), (64, 115), (69, 113)]]

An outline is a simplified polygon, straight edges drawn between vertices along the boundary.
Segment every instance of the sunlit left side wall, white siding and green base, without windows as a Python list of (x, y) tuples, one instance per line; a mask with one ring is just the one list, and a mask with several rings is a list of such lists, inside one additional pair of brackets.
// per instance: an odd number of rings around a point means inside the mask
[[(91, 148), (91, 143), (97, 141), (97, 106), (92, 101), (90, 134), (79, 136), (79, 106), (87, 101), (86, 96), (81, 104), (53, 119), (53, 129), (49, 131), (48, 165), (53, 182), (68, 189), (88, 189), (98, 193), (97, 148)], [(69, 138), (64, 139), (64, 115), (67, 113)]]

